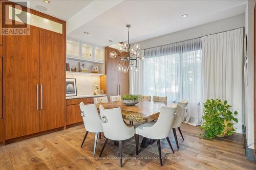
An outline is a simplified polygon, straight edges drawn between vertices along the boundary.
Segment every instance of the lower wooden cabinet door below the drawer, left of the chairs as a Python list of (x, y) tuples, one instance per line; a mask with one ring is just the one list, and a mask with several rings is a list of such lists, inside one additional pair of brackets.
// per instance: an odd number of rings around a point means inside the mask
[(76, 124), (82, 122), (82, 117), (80, 115), (80, 106), (76, 105), (67, 105), (67, 125)]

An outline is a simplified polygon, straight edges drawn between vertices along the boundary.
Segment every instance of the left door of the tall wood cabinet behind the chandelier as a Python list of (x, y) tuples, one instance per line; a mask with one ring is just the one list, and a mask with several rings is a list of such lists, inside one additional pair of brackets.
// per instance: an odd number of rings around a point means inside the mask
[(111, 58), (110, 52), (116, 52), (118, 50), (111, 47), (105, 47), (106, 57), (106, 95), (108, 98), (110, 95), (117, 95), (117, 85), (119, 83), (119, 72), (116, 70), (116, 66), (119, 64), (119, 57)]

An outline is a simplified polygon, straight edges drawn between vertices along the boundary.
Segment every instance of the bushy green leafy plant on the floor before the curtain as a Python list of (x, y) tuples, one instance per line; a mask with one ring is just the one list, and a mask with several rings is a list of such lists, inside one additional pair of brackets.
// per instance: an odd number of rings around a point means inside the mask
[(227, 101), (222, 102), (220, 99), (206, 100), (204, 103), (204, 115), (201, 128), (203, 130), (203, 137), (205, 139), (213, 139), (216, 137), (223, 137), (232, 135), (234, 132), (232, 121), (238, 123), (238, 119), (233, 115), (238, 112), (230, 111), (231, 106)]

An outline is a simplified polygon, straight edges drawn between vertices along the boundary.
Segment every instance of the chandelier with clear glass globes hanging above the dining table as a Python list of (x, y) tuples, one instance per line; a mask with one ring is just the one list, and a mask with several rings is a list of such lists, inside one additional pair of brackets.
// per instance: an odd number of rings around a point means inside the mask
[[(130, 28), (131, 25), (127, 24), (126, 28), (128, 28), (128, 42), (123, 42), (122, 44), (120, 44), (120, 46), (118, 47), (118, 51), (120, 53), (120, 55), (118, 55), (116, 52), (112, 51), (110, 52), (110, 57), (111, 58), (116, 58), (119, 57), (119, 64), (116, 66), (117, 71), (122, 71), (124, 73), (128, 72), (128, 70), (130, 71), (138, 71), (138, 65), (137, 65), (137, 60), (139, 59), (145, 59), (144, 56), (140, 57), (139, 56), (139, 50), (140, 50), (140, 45), (139, 44), (135, 44), (134, 47), (130, 48)], [(129, 52), (129, 57), (125, 57), (122, 56), (123, 52)], [(133, 61), (136, 60), (136, 64), (133, 64)], [(129, 64), (129, 66), (126, 66), (126, 62)], [(124, 66), (122, 66), (121, 63), (124, 63)]]

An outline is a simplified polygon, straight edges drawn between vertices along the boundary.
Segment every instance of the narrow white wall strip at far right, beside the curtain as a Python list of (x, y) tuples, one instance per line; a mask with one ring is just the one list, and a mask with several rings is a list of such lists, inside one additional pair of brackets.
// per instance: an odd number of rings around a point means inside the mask
[[(248, 1), (245, 9), (245, 33), (247, 33), (247, 47), (248, 47), (248, 86), (245, 86), (245, 126), (247, 144), (254, 143), (253, 132), (253, 10), (254, 1)], [(251, 149), (254, 145), (250, 145)]]

